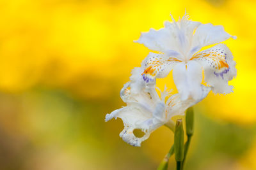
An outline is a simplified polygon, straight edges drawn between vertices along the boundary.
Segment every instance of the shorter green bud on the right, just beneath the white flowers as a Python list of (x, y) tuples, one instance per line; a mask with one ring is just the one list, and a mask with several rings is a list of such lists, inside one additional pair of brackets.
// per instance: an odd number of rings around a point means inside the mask
[(194, 133), (194, 110), (193, 107), (186, 111), (186, 134), (192, 136)]

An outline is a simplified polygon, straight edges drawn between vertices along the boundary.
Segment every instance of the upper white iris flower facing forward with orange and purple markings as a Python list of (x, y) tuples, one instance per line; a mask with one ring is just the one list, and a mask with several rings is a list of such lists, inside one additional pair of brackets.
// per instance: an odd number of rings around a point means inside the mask
[(198, 100), (202, 96), (202, 71), (205, 82), (214, 93), (233, 92), (228, 81), (236, 76), (236, 62), (224, 44), (218, 44), (198, 52), (202, 47), (234, 38), (224, 31), (221, 25), (201, 24), (188, 20), (188, 16), (175, 22), (165, 22), (158, 31), (150, 29), (142, 33), (136, 42), (150, 50), (162, 53), (149, 53), (142, 73), (146, 83), (163, 78), (173, 69), (173, 80), (182, 100), (189, 97)]

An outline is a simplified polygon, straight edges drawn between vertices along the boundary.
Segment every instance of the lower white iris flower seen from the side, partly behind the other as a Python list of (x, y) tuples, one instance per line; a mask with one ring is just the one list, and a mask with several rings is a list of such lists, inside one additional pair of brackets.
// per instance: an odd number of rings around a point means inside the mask
[[(210, 87), (202, 85), (202, 96), (196, 101), (192, 98), (181, 101), (180, 95), (175, 94), (165, 102), (169, 92), (164, 89), (159, 97), (154, 83), (146, 85), (141, 80), (141, 74), (138, 74), (140, 71), (141, 67), (136, 67), (132, 71), (131, 81), (126, 83), (120, 92), (127, 106), (107, 114), (105, 119), (107, 122), (112, 118), (122, 118), (124, 130), (120, 133), (120, 137), (132, 146), (140, 146), (142, 141), (148, 139), (151, 132), (164, 124), (171, 123), (173, 116), (183, 115), (187, 108), (204, 99), (211, 90)], [(145, 135), (137, 138), (133, 134), (134, 129), (141, 129)]]

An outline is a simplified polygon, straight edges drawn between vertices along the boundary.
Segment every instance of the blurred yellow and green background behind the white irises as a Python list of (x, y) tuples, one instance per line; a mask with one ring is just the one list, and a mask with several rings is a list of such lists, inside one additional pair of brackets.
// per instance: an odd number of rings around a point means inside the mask
[[(1, 0), (0, 169), (156, 169), (173, 133), (161, 127), (136, 148), (119, 137), (122, 120), (104, 117), (125, 106), (119, 91), (149, 52), (132, 41), (185, 8), (237, 36), (225, 42), (234, 93), (195, 106), (186, 169), (256, 169), (253, 0)], [(175, 91), (171, 74), (157, 83)]]

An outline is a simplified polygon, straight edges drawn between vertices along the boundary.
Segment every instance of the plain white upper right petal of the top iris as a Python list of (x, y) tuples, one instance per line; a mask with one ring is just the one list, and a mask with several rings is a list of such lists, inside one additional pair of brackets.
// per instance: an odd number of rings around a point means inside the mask
[(228, 38), (236, 39), (236, 36), (231, 36), (226, 31), (224, 31), (224, 27), (222, 25), (215, 26), (212, 24), (201, 24), (196, 29), (193, 36), (191, 49), (195, 50), (196, 48), (200, 50), (200, 48), (202, 48), (203, 46), (221, 43)]

